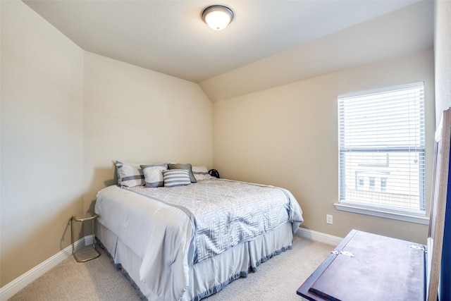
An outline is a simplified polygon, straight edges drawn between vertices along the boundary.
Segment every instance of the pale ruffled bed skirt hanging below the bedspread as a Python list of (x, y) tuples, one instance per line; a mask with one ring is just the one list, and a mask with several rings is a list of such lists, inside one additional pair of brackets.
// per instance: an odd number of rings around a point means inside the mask
[[(149, 301), (162, 301), (146, 283), (140, 281), (142, 259), (100, 223), (96, 223), (96, 235), (111, 254), (114, 264), (121, 265), (140, 293)], [(246, 277), (249, 271), (257, 271), (257, 266), (262, 262), (290, 250), (292, 240), (292, 223), (287, 222), (252, 241), (242, 242), (215, 257), (194, 264), (190, 269), (190, 285), (181, 300), (201, 300), (217, 293), (235, 279)]]

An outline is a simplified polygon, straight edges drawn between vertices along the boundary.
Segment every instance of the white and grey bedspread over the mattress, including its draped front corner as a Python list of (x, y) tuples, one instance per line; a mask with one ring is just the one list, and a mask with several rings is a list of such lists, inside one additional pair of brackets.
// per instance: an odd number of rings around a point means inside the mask
[(286, 221), (292, 221), (294, 232), (302, 222), (295, 197), (273, 186), (214, 179), (180, 188), (132, 190), (104, 188), (95, 211), (99, 223), (143, 259), (141, 281), (162, 300), (182, 297), (195, 262)]

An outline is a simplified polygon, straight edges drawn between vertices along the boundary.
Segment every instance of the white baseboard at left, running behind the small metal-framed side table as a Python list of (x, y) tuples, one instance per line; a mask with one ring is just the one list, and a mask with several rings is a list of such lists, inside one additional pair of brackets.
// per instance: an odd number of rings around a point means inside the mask
[[(92, 240), (92, 235), (80, 238), (80, 240), (77, 240), (74, 243), (75, 250), (80, 250), (85, 245), (91, 245)], [(22, 290), (25, 286), (39, 278), (39, 276), (44, 275), (47, 271), (50, 271), (54, 266), (70, 256), (72, 256), (72, 245), (69, 245), (64, 248), (64, 250), (54, 254), (54, 256), (38, 264), (34, 268), (30, 269), (30, 271), (18, 276), (18, 278), (0, 288), (0, 300), (8, 300), (13, 297), (13, 295), (16, 295), (19, 290)]]

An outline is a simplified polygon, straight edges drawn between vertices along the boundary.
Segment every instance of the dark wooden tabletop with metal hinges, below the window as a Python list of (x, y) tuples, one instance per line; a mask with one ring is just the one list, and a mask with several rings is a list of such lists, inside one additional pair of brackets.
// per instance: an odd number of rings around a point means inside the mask
[(299, 287), (312, 301), (425, 300), (424, 245), (352, 230)]

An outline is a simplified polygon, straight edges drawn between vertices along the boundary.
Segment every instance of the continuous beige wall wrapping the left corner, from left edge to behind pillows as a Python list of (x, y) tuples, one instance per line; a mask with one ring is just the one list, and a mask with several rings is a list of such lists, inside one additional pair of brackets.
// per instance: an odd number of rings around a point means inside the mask
[(0, 3), (4, 286), (70, 245), (70, 216), (92, 211), (114, 160), (211, 166), (213, 152), (198, 85), (82, 51), (21, 1)]

